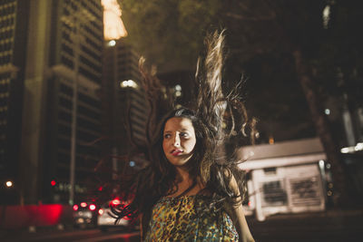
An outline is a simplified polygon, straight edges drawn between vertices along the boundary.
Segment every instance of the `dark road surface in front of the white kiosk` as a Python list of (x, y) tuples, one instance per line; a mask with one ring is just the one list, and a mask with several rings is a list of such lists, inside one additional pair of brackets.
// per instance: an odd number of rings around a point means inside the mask
[(351, 242), (363, 241), (362, 218), (362, 210), (328, 211), (250, 219), (249, 224), (256, 242)]

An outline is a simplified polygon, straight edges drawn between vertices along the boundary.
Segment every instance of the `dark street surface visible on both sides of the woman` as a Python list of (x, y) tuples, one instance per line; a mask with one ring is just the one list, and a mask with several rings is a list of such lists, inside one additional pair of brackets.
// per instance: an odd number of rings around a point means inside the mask
[[(346, 242), (361, 241), (363, 237), (363, 210), (326, 211), (295, 215), (275, 215), (259, 222), (248, 218), (257, 242)], [(110, 229), (38, 229), (2, 231), (1, 241), (140, 241), (138, 231)]]

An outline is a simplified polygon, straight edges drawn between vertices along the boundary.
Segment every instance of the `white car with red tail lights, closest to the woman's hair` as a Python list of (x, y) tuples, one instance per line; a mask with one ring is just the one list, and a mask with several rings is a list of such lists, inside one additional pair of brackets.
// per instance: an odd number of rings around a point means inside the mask
[(121, 200), (118, 198), (114, 198), (101, 206), (98, 209), (98, 217), (97, 217), (97, 226), (102, 231), (107, 231), (110, 227), (120, 227), (120, 228), (129, 228), (136, 229), (139, 227), (137, 221), (132, 221), (131, 218), (122, 218), (115, 224), (116, 218), (113, 218), (111, 207), (116, 207), (121, 205)]

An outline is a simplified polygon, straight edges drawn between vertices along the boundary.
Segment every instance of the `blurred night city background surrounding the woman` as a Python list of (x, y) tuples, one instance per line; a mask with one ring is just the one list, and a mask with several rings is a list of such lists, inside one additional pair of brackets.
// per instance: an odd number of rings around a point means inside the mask
[(238, 135), (225, 147), (246, 160), (244, 206), (256, 241), (358, 241), (359, 6), (0, 0), (0, 238), (138, 240), (137, 221), (113, 227), (107, 210), (123, 203), (120, 173), (147, 164), (134, 152), (150, 111), (139, 58), (162, 82), (155, 99), (188, 105), (203, 40), (225, 29), (223, 88), (242, 81), (241, 100), (257, 121), (254, 145)]

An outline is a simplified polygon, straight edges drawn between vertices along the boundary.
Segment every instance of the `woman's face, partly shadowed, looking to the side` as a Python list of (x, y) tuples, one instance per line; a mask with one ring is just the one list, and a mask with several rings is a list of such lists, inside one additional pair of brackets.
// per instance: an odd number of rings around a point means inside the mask
[(185, 165), (191, 159), (195, 143), (195, 131), (191, 120), (173, 117), (166, 121), (162, 150), (172, 165), (176, 167)]

